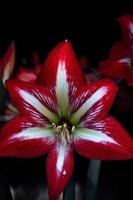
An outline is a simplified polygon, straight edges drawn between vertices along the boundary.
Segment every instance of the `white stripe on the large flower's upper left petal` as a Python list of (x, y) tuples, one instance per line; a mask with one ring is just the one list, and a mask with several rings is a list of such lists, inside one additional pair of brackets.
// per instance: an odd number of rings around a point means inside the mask
[(34, 107), (38, 112), (47, 117), (51, 122), (56, 123), (58, 121), (57, 115), (46, 108), (35, 96), (29, 94), (29, 92), (24, 90), (19, 90), (19, 94), (26, 103)]

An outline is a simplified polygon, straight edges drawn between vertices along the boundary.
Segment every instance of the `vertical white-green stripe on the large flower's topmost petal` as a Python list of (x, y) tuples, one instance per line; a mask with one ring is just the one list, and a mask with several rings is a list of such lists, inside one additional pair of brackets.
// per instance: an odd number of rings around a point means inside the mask
[(61, 109), (61, 115), (64, 117), (67, 116), (69, 108), (69, 85), (65, 67), (65, 62), (60, 61), (55, 86), (57, 102)]

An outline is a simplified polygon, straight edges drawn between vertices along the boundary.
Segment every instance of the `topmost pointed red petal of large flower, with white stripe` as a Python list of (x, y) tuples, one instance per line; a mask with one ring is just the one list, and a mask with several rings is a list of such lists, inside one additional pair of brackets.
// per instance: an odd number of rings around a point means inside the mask
[[(57, 45), (48, 55), (41, 69), (38, 81), (55, 90), (62, 117), (67, 117), (71, 86), (85, 84), (86, 80), (67, 40)], [(70, 92), (71, 90), (71, 92)]]

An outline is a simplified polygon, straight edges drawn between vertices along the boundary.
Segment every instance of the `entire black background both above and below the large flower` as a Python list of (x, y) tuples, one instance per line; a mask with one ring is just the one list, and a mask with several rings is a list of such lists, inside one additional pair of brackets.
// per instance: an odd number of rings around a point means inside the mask
[[(27, 2), (18, 2), (13, 5), (13, 2), (10, 2), (9, 5), (6, 2), (0, 7), (2, 11), (0, 14), (1, 57), (10, 42), (14, 40), (18, 63), (23, 57), (30, 59), (33, 51), (39, 52), (43, 61), (58, 42), (67, 38), (72, 42), (78, 57), (86, 55), (92, 64), (97, 66), (100, 60), (107, 57), (111, 45), (120, 38), (120, 27), (116, 18), (133, 13), (133, 3), (128, 0), (47, 3), (31, 2), (29, 5)], [(126, 116), (119, 116), (115, 111), (113, 115), (132, 132), (131, 110), (126, 113)], [(43, 184), (43, 180), (46, 187), (45, 159), (46, 157), (30, 160), (1, 158), (1, 177), (4, 178), (0, 177), (2, 188), (0, 191), (4, 191), (5, 180), (15, 187), (26, 185), (29, 191)], [(75, 180), (77, 182), (86, 181), (87, 166), (88, 161), (76, 154)], [(132, 199), (132, 180), (132, 160), (103, 161), (97, 200)], [(9, 197), (5, 194), (0, 196), (0, 200), (6, 199), (9, 200)]]

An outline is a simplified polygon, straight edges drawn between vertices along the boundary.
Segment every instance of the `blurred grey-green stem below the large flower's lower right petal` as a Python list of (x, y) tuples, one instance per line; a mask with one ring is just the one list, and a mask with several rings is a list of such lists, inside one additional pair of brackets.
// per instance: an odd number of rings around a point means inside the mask
[(85, 200), (95, 200), (100, 174), (101, 160), (90, 160)]

